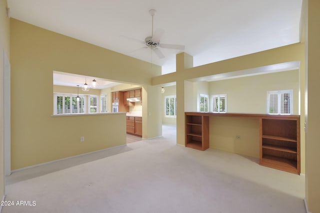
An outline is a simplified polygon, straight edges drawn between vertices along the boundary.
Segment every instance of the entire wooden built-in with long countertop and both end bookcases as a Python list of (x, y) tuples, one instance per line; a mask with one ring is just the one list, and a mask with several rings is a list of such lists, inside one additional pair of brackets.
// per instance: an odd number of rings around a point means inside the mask
[(209, 117), (259, 119), (260, 165), (300, 174), (300, 116), (185, 112), (185, 146), (209, 148)]

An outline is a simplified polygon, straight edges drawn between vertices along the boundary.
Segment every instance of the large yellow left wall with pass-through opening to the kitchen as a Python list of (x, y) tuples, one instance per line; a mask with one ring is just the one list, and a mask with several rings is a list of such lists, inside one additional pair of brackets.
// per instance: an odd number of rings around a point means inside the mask
[[(125, 144), (125, 114), (51, 117), (52, 71), (134, 82), (155, 96), (147, 85), (160, 75), (160, 67), (150, 70), (147, 62), (12, 18), (10, 29), (11, 169)], [(148, 110), (160, 115), (157, 106), (150, 104)], [(148, 123), (144, 137), (160, 136), (161, 122)]]

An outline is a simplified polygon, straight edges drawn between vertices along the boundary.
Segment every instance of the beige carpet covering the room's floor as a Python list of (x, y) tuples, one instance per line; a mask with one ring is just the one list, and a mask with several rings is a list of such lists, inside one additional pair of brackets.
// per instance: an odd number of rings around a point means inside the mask
[(163, 136), (15, 172), (5, 200), (35, 206), (2, 213), (305, 213), (303, 176), (176, 146), (174, 126)]

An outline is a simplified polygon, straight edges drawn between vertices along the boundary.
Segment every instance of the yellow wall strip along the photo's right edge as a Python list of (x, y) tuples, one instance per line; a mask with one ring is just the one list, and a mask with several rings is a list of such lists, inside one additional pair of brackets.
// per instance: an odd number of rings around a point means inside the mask
[(305, 140), (305, 198), (308, 211), (320, 213), (320, 1), (306, 1), (306, 140)]

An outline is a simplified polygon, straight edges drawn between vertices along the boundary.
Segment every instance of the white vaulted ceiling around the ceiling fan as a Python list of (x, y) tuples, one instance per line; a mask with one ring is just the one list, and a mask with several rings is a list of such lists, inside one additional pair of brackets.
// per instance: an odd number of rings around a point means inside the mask
[[(10, 15), (36, 26), (151, 62), (134, 51), (154, 29), (160, 43), (183, 44), (194, 66), (299, 42), (302, 0), (7, 0)], [(122, 36), (122, 37), (121, 37)], [(132, 52), (133, 51), (133, 52)], [(162, 74), (175, 71), (178, 50), (152, 54)]]

